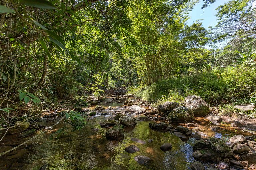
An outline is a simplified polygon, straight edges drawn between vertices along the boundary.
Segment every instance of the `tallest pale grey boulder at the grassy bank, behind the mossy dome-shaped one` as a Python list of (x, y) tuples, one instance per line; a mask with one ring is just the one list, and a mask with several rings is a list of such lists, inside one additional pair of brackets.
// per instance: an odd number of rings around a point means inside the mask
[(191, 109), (196, 117), (202, 117), (209, 114), (209, 106), (199, 96), (188, 96), (185, 98), (185, 106)]

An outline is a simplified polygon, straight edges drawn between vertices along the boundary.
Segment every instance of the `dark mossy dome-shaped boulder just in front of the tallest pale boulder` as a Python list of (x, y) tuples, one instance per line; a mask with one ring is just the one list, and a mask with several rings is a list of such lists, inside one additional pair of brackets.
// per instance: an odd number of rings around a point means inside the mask
[(193, 112), (187, 107), (178, 107), (173, 109), (167, 116), (168, 122), (191, 122), (195, 117)]

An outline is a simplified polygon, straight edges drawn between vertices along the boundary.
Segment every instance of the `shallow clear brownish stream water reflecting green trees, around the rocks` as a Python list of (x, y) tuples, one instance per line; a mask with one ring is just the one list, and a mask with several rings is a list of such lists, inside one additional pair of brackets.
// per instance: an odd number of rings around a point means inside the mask
[[(120, 104), (117, 104), (121, 106)], [(111, 105), (113, 107), (113, 105)], [(1, 157), (0, 169), (39, 170), (47, 164), (49, 170), (189, 170), (194, 161), (194, 138), (184, 142), (169, 132), (159, 132), (149, 128), (148, 121), (137, 121), (135, 128), (125, 128), (125, 137), (121, 141), (110, 141), (105, 137), (108, 128), (101, 128), (99, 122), (111, 118), (112, 115), (100, 115), (89, 118), (81, 131), (69, 132), (60, 138), (51, 138), (50, 133), (44, 134), (30, 144), (20, 147)], [(209, 136), (222, 137), (223, 134), (234, 133), (234, 130), (209, 131), (209, 122), (197, 119), (199, 128)], [(61, 124), (57, 128), (61, 128)], [(225, 128), (225, 127), (223, 127)], [(52, 132), (56, 131), (52, 130)], [(6, 136), (0, 145), (0, 152), (8, 150), (28, 138)], [(130, 140), (135, 137), (145, 140), (140, 144)], [(153, 139), (151, 143), (147, 140)], [(163, 143), (172, 143), (172, 149), (167, 152), (160, 150)], [(132, 154), (124, 151), (125, 147), (134, 144), (140, 151)], [(5, 146), (5, 147), (3, 147)], [(8, 147), (7, 147), (8, 146)], [(145, 155), (151, 158), (144, 165), (138, 164), (134, 157)]]

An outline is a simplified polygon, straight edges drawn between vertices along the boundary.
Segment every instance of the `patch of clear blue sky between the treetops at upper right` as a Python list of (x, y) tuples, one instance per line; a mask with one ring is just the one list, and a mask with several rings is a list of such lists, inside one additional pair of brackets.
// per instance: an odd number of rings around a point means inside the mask
[(188, 25), (193, 24), (196, 20), (203, 19), (203, 27), (208, 29), (209, 26), (215, 26), (218, 21), (215, 14), (217, 14), (217, 11), (215, 10), (218, 6), (225, 4), (225, 2), (228, 2), (229, 0), (217, 0), (204, 10), (201, 9), (203, 5), (203, 0), (200, 0), (199, 3), (197, 3), (193, 10), (190, 11), (189, 16), (190, 19), (187, 21)]

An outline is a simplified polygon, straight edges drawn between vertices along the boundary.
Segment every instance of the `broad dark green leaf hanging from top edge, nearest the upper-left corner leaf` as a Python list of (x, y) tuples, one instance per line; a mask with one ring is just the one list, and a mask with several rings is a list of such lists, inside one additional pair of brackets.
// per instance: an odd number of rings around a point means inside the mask
[(44, 9), (57, 9), (51, 2), (46, 0), (22, 0), (21, 4)]

